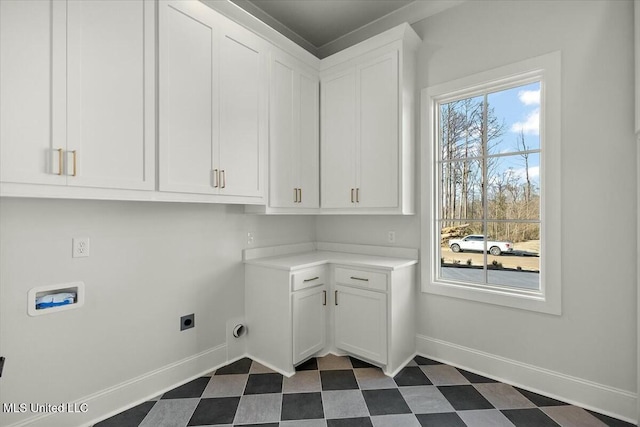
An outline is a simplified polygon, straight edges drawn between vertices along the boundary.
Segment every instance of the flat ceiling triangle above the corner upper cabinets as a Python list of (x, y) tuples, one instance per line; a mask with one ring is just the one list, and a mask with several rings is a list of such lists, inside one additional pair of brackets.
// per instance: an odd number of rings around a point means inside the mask
[(321, 48), (345, 34), (414, 2), (414, 0), (232, 1), (250, 13), (262, 12), (268, 15), (315, 48)]

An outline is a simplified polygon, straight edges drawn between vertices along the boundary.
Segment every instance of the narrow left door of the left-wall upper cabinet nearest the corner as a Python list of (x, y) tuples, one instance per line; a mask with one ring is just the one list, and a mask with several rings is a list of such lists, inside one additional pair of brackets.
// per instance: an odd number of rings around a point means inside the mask
[(300, 102), (296, 99), (293, 64), (280, 57), (271, 60), (269, 109), (269, 205), (291, 208), (297, 204), (298, 144), (296, 127)]

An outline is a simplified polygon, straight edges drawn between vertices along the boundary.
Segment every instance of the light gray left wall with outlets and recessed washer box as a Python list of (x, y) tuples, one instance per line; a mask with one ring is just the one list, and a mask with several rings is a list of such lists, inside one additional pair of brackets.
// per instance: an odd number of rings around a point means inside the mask
[[(73, 402), (224, 344), (227, 319), (244, 313), (247, 231), (255, 246), (315, 238), (311, 217), (243, 209), (1, 199), (2, 402)], [(90, 257), (71, 257), (77, 236), (90, 237)], [(27, 315), (29, 289), (71, 281), (84, 281), (84, 307)], [(188, 313), (196, 327), (180, 332)], [(25, 416), (2, 413), (0, 425)]]

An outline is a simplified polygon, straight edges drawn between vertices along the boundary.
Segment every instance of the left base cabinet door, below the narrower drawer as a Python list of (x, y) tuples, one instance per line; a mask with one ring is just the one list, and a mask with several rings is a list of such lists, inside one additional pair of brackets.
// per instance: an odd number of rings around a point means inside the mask
[(325, 286), (316, 286), (292, 294), (294, 365), (325, 347), (326, 304)]

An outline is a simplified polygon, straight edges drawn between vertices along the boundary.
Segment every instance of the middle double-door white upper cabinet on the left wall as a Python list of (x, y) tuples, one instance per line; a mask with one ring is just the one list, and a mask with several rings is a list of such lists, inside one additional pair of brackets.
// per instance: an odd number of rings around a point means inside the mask
[(202, 3), (163, 1), (159, 44), (160, 190), (260, 202), (264, 42)]

